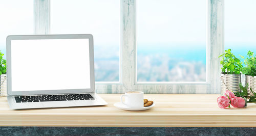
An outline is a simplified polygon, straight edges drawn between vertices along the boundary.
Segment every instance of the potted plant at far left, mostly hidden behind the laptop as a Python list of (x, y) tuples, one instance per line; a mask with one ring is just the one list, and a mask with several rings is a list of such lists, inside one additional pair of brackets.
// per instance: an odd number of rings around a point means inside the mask
[(6, 60), (3, 59), (4, 54), (0, 50), (0, 97), (6, 96)]

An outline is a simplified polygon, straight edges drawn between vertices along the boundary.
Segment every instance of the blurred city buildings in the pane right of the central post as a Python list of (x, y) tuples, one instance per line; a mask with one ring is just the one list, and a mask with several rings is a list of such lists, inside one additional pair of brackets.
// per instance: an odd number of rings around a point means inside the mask
[(206, 81), (202, 62), (172, 59), (168, 55), (138, 56), (138, 81)]

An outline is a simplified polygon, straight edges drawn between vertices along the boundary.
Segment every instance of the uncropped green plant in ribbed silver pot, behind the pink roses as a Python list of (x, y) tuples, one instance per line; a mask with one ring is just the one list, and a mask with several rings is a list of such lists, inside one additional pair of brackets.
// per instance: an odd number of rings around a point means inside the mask
[(221, 94), (226, 92), (226, 89), (233, 92), (240, 92), (239, 84), (241, 83), (242, 63), (231, 53), (231, 49), (225, 50), (225, 53), (219, 56), (222, 57), (222, 73), (221, 73)]

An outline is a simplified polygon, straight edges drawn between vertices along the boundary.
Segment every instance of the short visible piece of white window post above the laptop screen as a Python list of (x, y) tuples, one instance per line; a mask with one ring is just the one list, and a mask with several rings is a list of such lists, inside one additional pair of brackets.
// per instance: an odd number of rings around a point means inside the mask
[(50, 31), (50, 0), (34, 0), (34, 34), (46, 35)]

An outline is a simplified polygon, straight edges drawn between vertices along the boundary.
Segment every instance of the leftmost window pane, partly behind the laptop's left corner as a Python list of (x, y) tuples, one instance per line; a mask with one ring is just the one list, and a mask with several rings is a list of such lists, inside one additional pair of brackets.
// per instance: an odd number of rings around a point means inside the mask
[(1, 1), (0, 4), (0, 49), (6, 59), (6, 37), (8, 35), (33, 34), (34, 1)]

